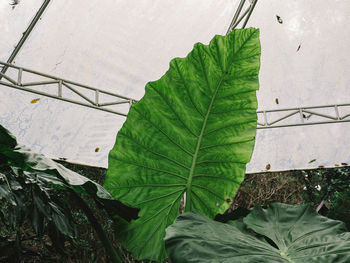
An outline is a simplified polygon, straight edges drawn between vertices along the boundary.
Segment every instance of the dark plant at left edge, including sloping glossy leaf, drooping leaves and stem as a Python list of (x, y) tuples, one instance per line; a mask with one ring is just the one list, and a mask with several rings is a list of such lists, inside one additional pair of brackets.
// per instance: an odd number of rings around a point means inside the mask
[[(63, 248), (66, 237), (75, 236), (75, 225), (67, 197), (72, 196), (94, 227), (112, 262), (122, 262), (117, 250), (106, 236), (86, 202), (79, 194), (88, 195), (112, 216), (124, 220), (137, 218), (138, 209), (115, 200), (101, 185), (64, 166), (17, 145), (16, 139), (0, 126), (0, 214), (17, 232), (20, 252), (21, 231), (25, 219), (36, 234), (47, 232), (56, 248)], [(64, 191), (60, 199), (57, 191)], [(62, 195), (60, 195), (62, 197)], [(1, 226), (0, 226), (1, 227)], [(63, 250), (63, 249), (62, 249)]]

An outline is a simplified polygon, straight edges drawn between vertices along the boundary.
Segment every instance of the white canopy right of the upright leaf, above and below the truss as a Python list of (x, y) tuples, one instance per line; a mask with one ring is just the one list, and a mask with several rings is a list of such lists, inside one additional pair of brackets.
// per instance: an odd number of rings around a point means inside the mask
[[(258, 2), (248, 26), (260, 28), (260, 110), (350, 103), (349, 16), (349, 1)], [(342, 123), (258, 130), (247, 169), (349, 163), (349, 128), (349, 123)]]

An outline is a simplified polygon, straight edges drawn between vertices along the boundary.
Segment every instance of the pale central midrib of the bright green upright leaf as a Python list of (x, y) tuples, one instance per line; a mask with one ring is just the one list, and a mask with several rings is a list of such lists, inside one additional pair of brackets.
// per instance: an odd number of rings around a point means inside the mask
[[(190, 212), (192, 211), (192, 179), (193, 179), (193, 174), (194, 174), (194, 170), (196, 168), (196, 163), (197, 163), (197, 158), (198, 158), (198, 153), (200, 151), (200, 148), (201, 148), (201, 143), (202, 143), (202, 139), (204, 137), (204, 131), (205, 131), (205, 128), (207, 126), (207, 122), (208, 122), (208, 118), (209, 118), (209, 115), (210, 115), (210, 112), (211, 112), (211, 109), (213, 107), (213, 104), (214, 104), (214, 101), (216, 99), (216, 95), (217, 95), (217, 92), (221, 86), (221, 83), (222, 81), (224, 80), (224, 77), (228, 74), (228, 69), (231, 67), (231, 65), (233, 64), (233, 62), (235, 61), (234, 60), (234, 57), (235, 55), (242, 49), (243, 46), (245, 46), (245, 44), (250, 40), (250, 38), (255, 34), (255, 31), (253, 31), (249, 37), (247, 37), (247, 39), (242, 43), (242, 45), (239, 47), (239, 49), (232, 55), (232, 60), (230, 61), (230, 63), (228, 64), (227, 68), (223, 70), (223, 74), (220, 78), (220, 81), (218, 82), (216, 88), (215, 88), (215, 91), (214, 91), (214, 94), (213, 94), (213, 97), (210, 101), (210, 104), (209, 104), (209, 107), (208, 107), (208, 110), (207, 110), (207, 113), (205, 115), (205, 118), (204, 118), (204, 121), (203, 121), (203, 124), (202, 124), (202, 129), (201, 129), (201, 133), (200, 135), (198, 136), (198, 140), (197, 140), (197, 146), (196, 146), (196, 150), (193, 154), (193, 158), (192, 158), (192, 165), (191, 165), (191, 170), (190, 170), (190, 173), (189, 173), (189, 177), (188, 177), (188, 181), (187, 181), (187, 184), (186, 184), (186, 204), (185, 204), (185, 212)], [(235, 37), (235, 36), (234, 36)], [(234, 41), (233, 41), (234, 43)], [(199, 52), (200, 54), (200, 52)], [(218, 54), (219, 55), (219, 54)], [(221, 63), (221, 61), (219, 61), (219, 63)], [(221, 67), (221, 66), (220, 66)], [(203, 67), (203, 70), (205, 71), (205, 68)], [(205, 75), (206, 76), (206, 75)], [(209, 83), (208, 83), (209, 85)], [(208, 87), (209, 88), (209, 87)]]

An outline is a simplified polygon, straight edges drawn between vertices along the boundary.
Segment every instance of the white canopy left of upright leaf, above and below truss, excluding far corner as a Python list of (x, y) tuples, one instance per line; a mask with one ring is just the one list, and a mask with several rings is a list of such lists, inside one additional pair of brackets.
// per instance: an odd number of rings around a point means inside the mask
[[(236, 5), (224, 0), (51, 1), (15, 63), (139, 99), (172, 58), (226, 33)], [(125, 118), (16, 90), (3, 93), (0, 118), (20, 142), (50, 157), (107, 166)], [(35, 98), (40, 100), (31, 104)]]

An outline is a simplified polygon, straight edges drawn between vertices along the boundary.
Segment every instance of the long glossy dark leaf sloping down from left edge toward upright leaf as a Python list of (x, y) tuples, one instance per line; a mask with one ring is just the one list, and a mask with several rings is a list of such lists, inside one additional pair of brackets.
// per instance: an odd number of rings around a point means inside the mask
[(1, 125), (0, 160), (5, 161), (12, 168), (31, 173), (35, 178), (33, 180), (47, 182), (60, 188), (71, 187), (78, 193), (90, 195), (103, 204), (107, 211), (125, 220), (137, 218), (138, 209), (115, 200), (101, 185), (87, 177), (67, 169), (42, 154), (33, 152), (26, 146), (18, 145), (16, 138)]

